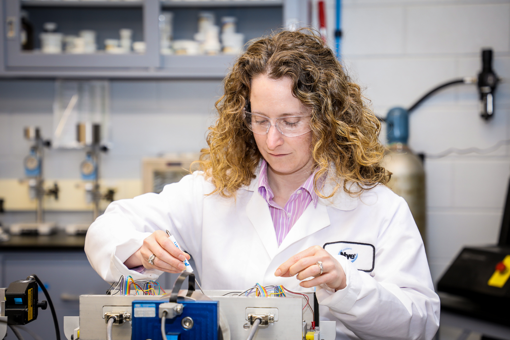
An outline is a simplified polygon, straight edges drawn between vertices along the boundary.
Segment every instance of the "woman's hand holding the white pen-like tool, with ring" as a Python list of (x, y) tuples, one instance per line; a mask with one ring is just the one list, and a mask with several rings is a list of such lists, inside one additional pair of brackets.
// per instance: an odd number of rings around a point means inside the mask
[[(156, 255), (154, 265), (149, 264), (149, 256)], [(127, 268), (142, 265), (147, 269), (157, 269), (168, 273), (181, 273), (186, 266), (184, 260), (190, 255), (175, 247), (163, 230), (151, 233), (143, 245), (133, 255), (124, 261)]]

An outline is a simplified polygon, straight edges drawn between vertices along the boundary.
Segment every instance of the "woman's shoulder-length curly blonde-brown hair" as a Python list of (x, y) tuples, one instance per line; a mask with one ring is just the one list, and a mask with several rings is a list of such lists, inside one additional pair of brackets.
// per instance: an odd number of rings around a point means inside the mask
[[(199, 169), (222, 197), (256, 178), (262, 158), (253, 133), (243, 121), (249, 104), (250, 81), (259, 75), (289, 77), (293, 95), (310, 109), (314, 189), (329, 198), (342, 188), (351, 196), (386, 184), (390, 174), (379, 163), (384, 148), (378, 142), (380, 123), (367, 107), (358, 85), (352, 83), (333, 51), (314, 31), (281, 31), (252, 41), (224, 80), (224, 94), (216, 102), (219, 118), (209, 128), (209, 148), (201, 150)], [(323, 175), (334, 181), (328, 195), (320, 192)], [(352, 185), (354, 184), (354, 186)]]

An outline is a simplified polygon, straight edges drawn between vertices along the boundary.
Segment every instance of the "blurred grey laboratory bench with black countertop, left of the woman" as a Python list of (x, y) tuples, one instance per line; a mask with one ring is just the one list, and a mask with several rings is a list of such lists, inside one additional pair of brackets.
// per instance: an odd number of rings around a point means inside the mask
[[(79, 316), (80, 295), (105, 294), (110, 287), (90, 266), (84, 244), (85, 236), (68, 236), (64, 231), (50, 236), (11, 236), (9, 241), (0, 242), (0, 287), (36, 274), (52, 298), (61, 338), (64, 316)], [(172, 285), (170, 274), (166, 274), (158, 280), (162, 287)], [(42, 300), (46, 298), (39, 289)], [(44, 340), (55, 339), (49, 307), (39, 310), (37, 320), (26, 327)]]

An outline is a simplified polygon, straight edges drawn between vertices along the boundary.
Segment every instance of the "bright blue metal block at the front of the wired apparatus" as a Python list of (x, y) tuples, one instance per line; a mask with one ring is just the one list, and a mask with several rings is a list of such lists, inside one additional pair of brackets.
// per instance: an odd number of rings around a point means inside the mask
[[(218, 301), (180, 300), (183, 313), (166, 320), (166, 339), (161, 337), (159, 305), (168, 300), (133, 301), (131, 340), (218, 340)], [(184, 329), (184, 318), (193, 319), (193, 327)]]

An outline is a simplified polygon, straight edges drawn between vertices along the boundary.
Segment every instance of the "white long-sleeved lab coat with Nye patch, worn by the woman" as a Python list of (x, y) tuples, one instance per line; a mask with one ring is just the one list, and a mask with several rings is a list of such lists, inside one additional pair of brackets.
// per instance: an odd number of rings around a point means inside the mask
[(307, 207), (278, 247), (268, 205), (257, 187), (258, 178), (239, 189), (236, 200), (205, 196), (214, 187), (195, 172), (160, 194), (112, 202), (88, 230), (89, 261), (109, 282), (120, 275), (156, 280), (162, 272), (138, 273), (123, 262), (152, 232), (168, 229), (193, 256), (203, 289), (245, 290), (259, 282), (302, 290), (295, 277), (274, 276), (290, 256), (332, 242), (367, 244), (359, 246), (363, 249), (356, 262), (354, 255), (347, 259), (338, 249), (332, 253), (345, 271), (347, 286), (337, 292), (317, 290), (321, 319), (337, 321), (337, 339), (435, 335), (439, 298), (420, 234), (401, 197), (379, 185), (359, 198), (343, 191), (333, 201), (319, 198), (317, 207)]

